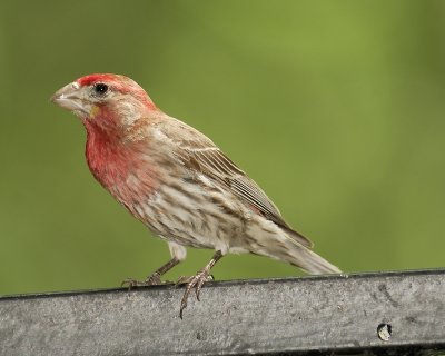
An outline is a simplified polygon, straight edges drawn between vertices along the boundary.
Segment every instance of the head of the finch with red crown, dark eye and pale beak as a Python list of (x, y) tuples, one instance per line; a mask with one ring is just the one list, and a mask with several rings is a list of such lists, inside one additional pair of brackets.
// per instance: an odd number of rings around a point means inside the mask
[(132, 79), (111, 73), (89, 75), (59, 89), (51, 101), (77, 115), (88, 127), (131, 126), (157, 108)]

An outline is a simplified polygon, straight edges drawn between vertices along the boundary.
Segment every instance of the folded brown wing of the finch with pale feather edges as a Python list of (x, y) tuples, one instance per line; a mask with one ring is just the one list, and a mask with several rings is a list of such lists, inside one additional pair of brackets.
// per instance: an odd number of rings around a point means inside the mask
[[(267, 195), (250, 179), (237, 165), (231, 161), (209, 138), (189, 127), (188, 125), (174, 119), (170, 121), (168, 131), (165, 130), (170, 139), (175, 141), (174, 147), (177, 149), (174, 155), (190, 169), (195, 169), (214, 181), (218, 181), (241, 198), (246, 204), (257, 209), (265, 218), (274, 221), (283, 228), (291, 238), (306, 247), (313, 247), (313, 243), (293, 230), (283, 219), (281, 214)], [(166, 129), (166, 128), (164, 128)], [(172, 134), (171, 130), (181, 131)], [(187, 137), (187, 139), (178, 140), (178, 138)]]

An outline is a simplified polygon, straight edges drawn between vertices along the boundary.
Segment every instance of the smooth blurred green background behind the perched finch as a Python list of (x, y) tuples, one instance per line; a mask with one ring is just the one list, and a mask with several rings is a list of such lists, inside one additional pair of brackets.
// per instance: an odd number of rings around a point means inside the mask
[[(49, 102), (132, 77), (216, 141), (345, 271), (444, 266), (444, 1), (0, 4), (0, 294), (115, 287), (167, 245), (93, 180), (85, 130)], [(167, 277), (194, 274), (190, 250)], [(217, 279), (300, 275), (229, 256)]]

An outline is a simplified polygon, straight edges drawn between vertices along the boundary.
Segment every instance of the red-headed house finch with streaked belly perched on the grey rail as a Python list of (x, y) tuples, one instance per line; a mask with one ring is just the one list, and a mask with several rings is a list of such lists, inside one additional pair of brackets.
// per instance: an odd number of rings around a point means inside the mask
[(186, 258), (186, 247), (210, 248), (214, 257), (181, 278), (199, 293), (211, 267), (227, 253), (251, 253), (287, 261), (309, 274), (340, 270), (312, 251), (313, 244), (285, 222), (266, 194), (209, 138), (158, 109), (130, 78), (90, 75), (52, 97), (87, 129), (86, 156), (95, 178), (137, 219), (168, 244), (171, 259), (146, 280)]

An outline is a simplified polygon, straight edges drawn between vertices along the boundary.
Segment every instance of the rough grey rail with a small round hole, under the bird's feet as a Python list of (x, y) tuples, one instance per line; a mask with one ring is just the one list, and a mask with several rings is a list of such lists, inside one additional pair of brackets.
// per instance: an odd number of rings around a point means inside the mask
[(445, 270), (209, 283), (200, 303), (190, 298), (184, 320), (178, 316), (182, 293), (182, 288), (158, 286), (2, 297), (0, 353), (419, 355), (445, 350)]

